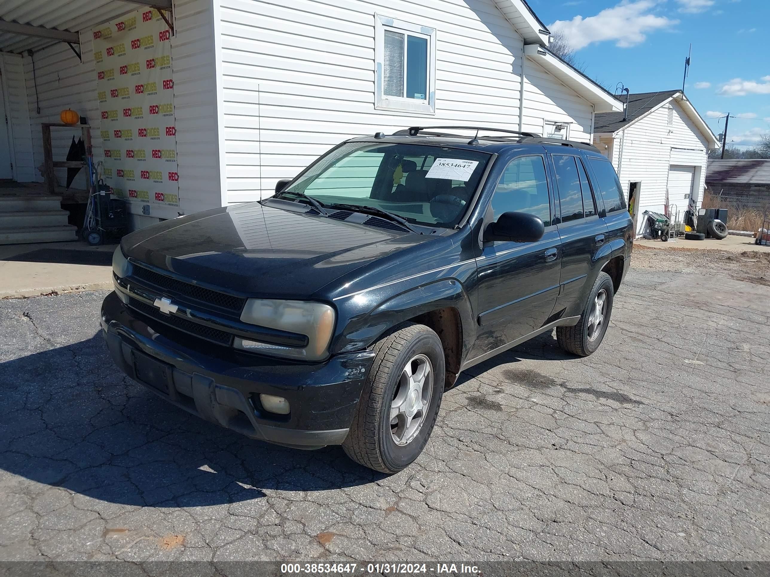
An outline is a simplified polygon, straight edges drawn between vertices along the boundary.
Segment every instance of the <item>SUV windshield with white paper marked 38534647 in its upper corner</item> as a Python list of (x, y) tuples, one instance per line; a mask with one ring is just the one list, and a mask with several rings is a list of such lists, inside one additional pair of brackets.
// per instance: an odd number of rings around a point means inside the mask
[(281, 194), (380, 208), (408, 222), (451, 228), (463, 218), (489, 158), (460, 148), (349, 142)]

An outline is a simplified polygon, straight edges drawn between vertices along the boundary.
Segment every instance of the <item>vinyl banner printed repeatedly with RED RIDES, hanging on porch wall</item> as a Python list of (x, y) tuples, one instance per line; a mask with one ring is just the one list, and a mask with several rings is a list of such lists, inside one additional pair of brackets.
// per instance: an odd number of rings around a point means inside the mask
[(129, 202), (179, 206), (169, 27), (146, 8), (92, 32), (105, 184)]

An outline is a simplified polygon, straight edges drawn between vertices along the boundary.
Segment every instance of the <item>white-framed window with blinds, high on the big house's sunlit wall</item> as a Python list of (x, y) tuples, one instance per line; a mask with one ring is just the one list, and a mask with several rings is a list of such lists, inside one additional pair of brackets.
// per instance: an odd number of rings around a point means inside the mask
[(436, 28), (375, 14), (374, 107), (436, 113)]

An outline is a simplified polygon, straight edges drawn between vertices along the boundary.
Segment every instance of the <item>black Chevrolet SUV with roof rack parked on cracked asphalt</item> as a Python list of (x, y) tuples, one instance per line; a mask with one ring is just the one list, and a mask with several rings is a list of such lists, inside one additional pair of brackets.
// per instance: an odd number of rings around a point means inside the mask
[(554, 328), (590, 355), (631, 258), (614, 168), (580, 142), (447, 129), (467, 127), (353, 138), (272, 198), (123, 238), (112, 358), (207, 421), (392, 473), (464, 369)]

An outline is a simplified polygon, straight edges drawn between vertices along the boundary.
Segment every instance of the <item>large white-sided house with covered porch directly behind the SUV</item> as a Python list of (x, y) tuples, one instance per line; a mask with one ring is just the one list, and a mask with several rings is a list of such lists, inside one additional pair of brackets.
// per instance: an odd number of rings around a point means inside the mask
[[(92, 30), (139, 8), (72, 0), (65, 16), (46, 2), (0, 8), (0, 86), (15, 111), (8, 146), (19, 182), (42, 181), (40, 124), (57, 122), (63, 108), (89, 118), (102, 158)], [(353, 136), (481, 125), (590, 142), (594, 115), (621, 110), (548, 51), (550, 33), (523, 0), (152, 5), (167, 6), (174, 25), (179, 206), (129, 202), (134, 226), (272, 195), (280, 178)], [(82, 62), (64, 42), (4, 32), (3, 21), (77, 33)], [(73, 134), (56, 132), (55, 157)], [(64, 174), (57, 169), (59, 180)]]

